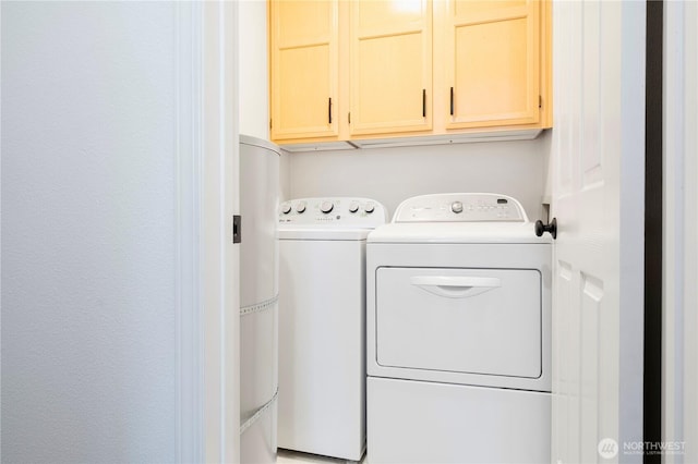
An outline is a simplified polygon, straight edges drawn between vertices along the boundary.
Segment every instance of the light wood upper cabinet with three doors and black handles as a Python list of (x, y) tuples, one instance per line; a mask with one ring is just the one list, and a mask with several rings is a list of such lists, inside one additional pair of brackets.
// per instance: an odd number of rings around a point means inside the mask
[(272, 139), (551, 126), (550, 0), (269, 0)]

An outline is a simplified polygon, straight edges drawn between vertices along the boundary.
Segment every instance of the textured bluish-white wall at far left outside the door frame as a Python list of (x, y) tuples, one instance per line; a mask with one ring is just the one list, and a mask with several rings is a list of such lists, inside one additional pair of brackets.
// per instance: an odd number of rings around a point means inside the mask
[(7, 2), (2, 460), (176, 461), (176, 15)]

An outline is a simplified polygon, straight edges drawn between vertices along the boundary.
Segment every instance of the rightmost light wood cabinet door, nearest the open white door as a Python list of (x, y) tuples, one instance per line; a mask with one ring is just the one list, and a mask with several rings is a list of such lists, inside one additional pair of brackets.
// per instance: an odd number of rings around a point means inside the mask
[(448, 0), (447, 129), (540, 121), (539, 0)]

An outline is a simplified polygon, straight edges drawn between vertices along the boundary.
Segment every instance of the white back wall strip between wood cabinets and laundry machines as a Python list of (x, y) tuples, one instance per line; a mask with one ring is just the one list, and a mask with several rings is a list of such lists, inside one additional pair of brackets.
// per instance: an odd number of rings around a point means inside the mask
[(448, 192), (495, 192), (541, 217), (550, 134), (533, 141), (288, 155), (290, 197), (363, 196), (393, 215), (406, 198)]

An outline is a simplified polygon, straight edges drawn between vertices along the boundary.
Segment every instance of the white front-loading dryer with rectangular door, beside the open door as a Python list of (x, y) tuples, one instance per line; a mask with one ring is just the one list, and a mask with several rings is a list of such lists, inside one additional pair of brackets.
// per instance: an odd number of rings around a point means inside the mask
[(369, 235), (372, 463), (550, 462), (551, 249), (496, 194), (409, 198)]

